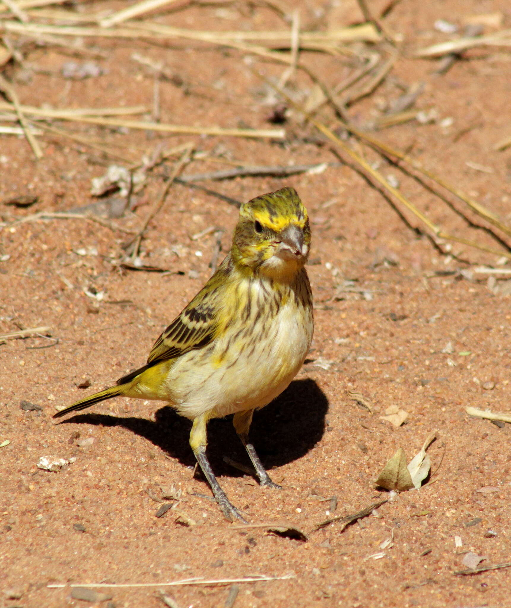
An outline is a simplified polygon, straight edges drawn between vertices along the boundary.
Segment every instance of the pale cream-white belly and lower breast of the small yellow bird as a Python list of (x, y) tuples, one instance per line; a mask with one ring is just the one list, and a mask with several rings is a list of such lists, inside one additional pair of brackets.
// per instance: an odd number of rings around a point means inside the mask
[[(265, 331), (266, 330), (266, 331)], [(262, 407), (295, 377), (312, 340), (312, 310), (297, 308), (293, 298), (270, 322), (247, 327), (249, 339), (216, 339), (204, 353), (180, 357), (168, 375), (174, 407), (187, 418), (208, 411), (211, 417)], [(265, 335), (266, 334), (266, 335)], [(218, 364), (218, 356), (224, 359)]]

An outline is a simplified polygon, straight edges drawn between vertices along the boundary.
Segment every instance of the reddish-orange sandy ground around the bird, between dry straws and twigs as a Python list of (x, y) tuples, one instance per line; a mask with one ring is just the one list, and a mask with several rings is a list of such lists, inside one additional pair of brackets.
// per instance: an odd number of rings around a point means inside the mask
[[(349, 2), (299, 4), (303, 29), (360, 20)], [(124, 6), (96, 2), (78, 4), (76, 10)], [(462, 30), (467, 15), (489, 13), (501, 13), (499, 27), (510, 27), (504, 0), (397, 4), (385, 24), (402, 36), (400, 57), (385, 82), (349, 115), (364, 125), (382, 116), (385, 103), (399, 97), (403, 87), (424, 82), (416, 107), (435, 108), (436, 120), (404, 123), (377, 136), (410, 151), (506, 221), (511, 218), (510, 150), (495, 151), (493, 145), (511, 133), (509, 49), (473, 50), (441, 76), (433, 74), (436, 61), (412, 57), (414, 49), (455, 36), (435, 30), (437, 19)], [(262, 4), (183, 5), (154, 19), (197, 30), (289, 29)], [(132, 60), (137, 50), (163, 61), (176, 75), (174, 81), (160, 81), (162, 122), (280, 128), (268, 122), (275, 102), (270, 88), (237, 50), (183, 40), (107, 38), (87, 39), (87, 47), (104, 53), (92, 59), (103, 74), (65, 78), (66, 61), (90, 58), (70, 58), (65, 49), (27, 40), (22, 47), (27, 65), (7, 66), (4, 75), (26, 105), (150, 109), (154, 75)], [(302, 58), (331, 86), (351, 69), (343, 55), (303, 53)], [(276, 63), (257, 65), (270, 77), (284, 71)], [(312, 86), (307, 76), (290, 78), (306, 96)], [(335, 128), (333, 115), (324, 116)], [(129, 167), (129, 162), (56, 135), (39, 138), (44, 157), (35, 162), (22, 137), (0, 136), (0, 202), (37, 197), (27, 209), (0, 204), (0, 333), (44, 326), (53, 337), (0, 340), (0, 444), (10, 442), (0, 447), (0, 606), (85, 606), (69, 587), (47, 586), (105, 582), (154, 586), (101, 589), (111, 598), (102, 598), (102, 606), (157, 607), (163, 606), (159, 584), (253, 575), (290, 578), (168, 587), (167, 592), (180, 607), (511, 606), (511, 570), (456, 575), (467, 569), (462, 561), (470, 552), (484, 558), (481, 565), (506, 563), (511, 556), (509, 427), (465, 413), (467, 406), (509, 410), (506, 292), (511, 290), (501, 280), (506, 275), (498, 275), (496, 289), (495, 282), (487, 283), (488, 275), (473, 272), (481, 263), (506, 269), (505, 260), (459, 243), (445, 249), (444, 241), (443, 251), (435, 247), (414, 230), (422, 229), (416, 218), (404, 212), (408, 226), (351, 162), (318, 145), (317, 132), (295, 114), (282, 125), (284, 141), (55, 124), (134, 159), (190, 142), (195, 150), (234, 165), (329, 163), (319, 174), (200, 182), (235, 201), (283, 185), (297, 188), (312, 221), (308, 269), (315, 297), (309, 358), (289, 389), (256, 414), (252, 427), (253, 442), (283, 490), (260, 488), (252, 475), (225, 463), (227, 456), (249, 464), (229, 420), (210, 423), (208, 452), (222, 487), (251, 523), (286, 520), (309, 533), (329, 515), (349, 515), (389, 500), (365, 519), (345, 529), (332, 523), (311, 532), (307, 541), (266, 528), (240, 529), (222, 518), (204, 480), (194, 477), (190, 423), (164, 403), (118, 398), (55, 424), (56, 407), (145, 362), (154, 339), (210, 275), (218, 234), (207, 229), (224, 231), (225, 255), (238, 212), (204, 190), (174, 184), (141, 246), (144, 264), (171, 272), (123, 270), (118, 266), (122, 245), (132, 235), (115, 227), (142, 226), (172, 159), (150, 174), (135, 196), (136, 208), (113, 219), (114, 229), (86, 219), (22, 223), (34, 213), (97, 201), (90, 194), (91, 179), (109, 164)], [(377, 161), (376, 153), (365, 154)], [(233, 164), (197, 159), (184, 173)], [(464, 209), (459, 202), (452, 210), (396, 167), (384, 161), (377, 166), (448, 232), (506, 251), (456, 213)], [(352, 393), (362, 395), (374, 411)], [(21, 407), (24, 402), (39, 408)], [(380, 417), (391, 406), (408, 413), (400, 427)], [(437, 439), (428, 449), (430, 483), (394, 497), (378, 491), (374, 480), (388, 458), (402, 447), (410, 460), (435, 430)], [(70, 463), (58, 472), (45, 471), (38, 468), (45, 456)], [(156, 517), (162, 504), (176, 505), (162, 498), (169, 494), (179, 497), (176, 511)]]

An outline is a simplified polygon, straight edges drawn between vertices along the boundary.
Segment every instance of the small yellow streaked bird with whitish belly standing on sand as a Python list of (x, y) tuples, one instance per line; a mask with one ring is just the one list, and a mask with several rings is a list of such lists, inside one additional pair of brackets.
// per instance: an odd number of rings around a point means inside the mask
[(53, 417), (115, 396), (168, 402), (192, 421), (190, 447), (225, 518), (244, 522), (211, 469), (207, 423), (234, 414), (260, 485), (281, 489), (264, 469), (249, 428), (254, 411), (287, 388), (309, 351), (309, 249), (309, 218), (294, 188), (244, 202), (230, 252), (157, 338), (146, 365)]

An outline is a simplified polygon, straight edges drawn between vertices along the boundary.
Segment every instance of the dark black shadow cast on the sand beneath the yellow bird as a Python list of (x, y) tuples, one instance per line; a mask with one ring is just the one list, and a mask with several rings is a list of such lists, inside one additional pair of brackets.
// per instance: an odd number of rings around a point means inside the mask
[[(311, 379), (295, 380), (268, 406), (254, 413), (250, 439), (266, 469), (282, 466), (303, 457), (321, 439), (328, 411), (328, 399)], [(208, 458), (217, 475), (242, 475), (224, 463), (228, 456), (251, 466), (244, 447), (227, 419), (208, 423)], [(155, 421), (130, 416), (122, 418), (106, 414), (79, 414), (63, 421), (97, 426), (121, 426), (146, 438), (154, 446), (183, 465), (194, 465), (195, 459), (188, 443), (191, 423), (177, 415), (170, 406), (155, 413)]]

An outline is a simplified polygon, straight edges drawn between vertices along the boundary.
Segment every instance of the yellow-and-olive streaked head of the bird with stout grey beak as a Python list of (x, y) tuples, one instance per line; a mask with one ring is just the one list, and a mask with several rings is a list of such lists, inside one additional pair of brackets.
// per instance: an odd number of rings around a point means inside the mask
[(309, 246), (307, 210), (294, 188), (242, 204), (231, 250), (238, 266), (276, 277), (294, 274), (306, 263)]

